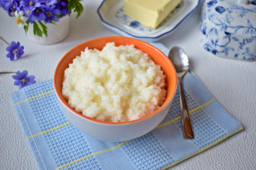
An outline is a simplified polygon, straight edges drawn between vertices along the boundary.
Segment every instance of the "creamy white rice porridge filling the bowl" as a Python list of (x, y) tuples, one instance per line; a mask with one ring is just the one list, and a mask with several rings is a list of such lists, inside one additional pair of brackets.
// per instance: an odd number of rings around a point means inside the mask
[(148, 54), (110, 42), (86, 48), (65, 70), (62, 93), (84, 116), (108, 122), (137, 120), (158, 110), (166, 76)]

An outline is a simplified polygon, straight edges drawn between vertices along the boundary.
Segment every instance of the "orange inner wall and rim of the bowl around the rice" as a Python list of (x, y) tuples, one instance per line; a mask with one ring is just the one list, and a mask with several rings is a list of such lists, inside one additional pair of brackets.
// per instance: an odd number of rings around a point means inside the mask
[[(102, 48), (108, 42), (115, 42), (116, 46), (121, 46), (121, 45), (125, 46), (125, 45), (133, 44), (135, 48), (138, 48), (139, 50), (147, 53), (157, 65), (161, 65), (162, 71), (164, 71), (164, 74), (166, 75), (167, 95), (164, 103), (158, 110), (156, 110), (152, 114), (149, 114), (148, 116), (145, 116), (137, 120), (131, 120), (127, 122), (106, 122), (106, 121), (96, 120), (88, 116), (84, 116), (83, 114), (76, 112), (67, 103), (67, 100), (62, 95), (62, 87), (63, 87), (64, 72), (65, 72), (65, 69), (69, 67), (69, 63), (72, 63), (73, 58), (75, 58), (76, 56), (80, 56), (81, 52), (84, 51), (86, 47), (88, 47), (89, 49), (96, 48), (98, 50), (102, 50)], [(55, 69), (55, 73), (53, 77), (53, 85), (55, 88), (55, 93), (57, 94), (57, 97), (59, 97), (59, 100), (61, 101), (61, 103), (63, 103), (63, 105), (65, 105), (66, 108), (68, 108), (71, 112), (81, 116), (81, 118), (86, 118), (87, 120), (91, 120), (93, 122), (98, 122), (101, 124), (129, 124), (129, 123), (138, 122), (138, 121), (150, 118), (151, 116), (153, 116), (154, 114), (162, 110), (167, 105), (167, 103), (172, 100), (177, 88), (177, 74), (174, 69), (174, 66), (172, 65), (172, 62), (170, 62), (168, 57), (166, 57), (166, 55), (161, 50), (158, 50), (158, 48), (152, 46), (151, 44), (148, 44), (147, 42), (143, 42), (141, 40), (137, 40), (135, 38), (128, 38), (123, 36), (108, 36), (108, 37), (88, 40), (86, 42), (83, 42), (82, 44), (78, 44), (77, 46), (69, 50), (69, 52), (67, 52), (61, 58), (61, 60), (59, 61)]]

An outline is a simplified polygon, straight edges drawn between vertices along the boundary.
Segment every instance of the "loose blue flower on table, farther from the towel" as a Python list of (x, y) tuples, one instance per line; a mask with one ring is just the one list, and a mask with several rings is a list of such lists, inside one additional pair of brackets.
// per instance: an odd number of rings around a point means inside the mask
[(20, 42), (11, 42), (11, 46), (7, 46), (6, 50), (9, 52), (6, 56), (13, 60), (15, 55), (17, 58), (20, 58), (24, 54), (24, 46), (20, 46)]

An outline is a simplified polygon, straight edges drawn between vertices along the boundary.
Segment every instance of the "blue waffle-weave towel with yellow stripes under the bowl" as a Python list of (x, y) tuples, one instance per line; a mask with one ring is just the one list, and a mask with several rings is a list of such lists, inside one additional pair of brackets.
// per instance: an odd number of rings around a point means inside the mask
[[(162, 44), (153, 45), (168, 54)], [(184, 86), (193, 140), (183, 139), (179, 91), (159, 126), (126, 142), (103, 142), (77, 130), (63, 115), (52, 80), (11, 99), (40, 169), (166, 169), (243, 130), (191, 71)]]

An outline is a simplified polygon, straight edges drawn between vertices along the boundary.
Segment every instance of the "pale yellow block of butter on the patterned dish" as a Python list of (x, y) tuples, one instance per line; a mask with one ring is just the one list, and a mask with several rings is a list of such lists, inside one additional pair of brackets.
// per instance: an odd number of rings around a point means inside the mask
[(157, 28), (181, 0), (125, 0), (125, 15), (143, 26)]

